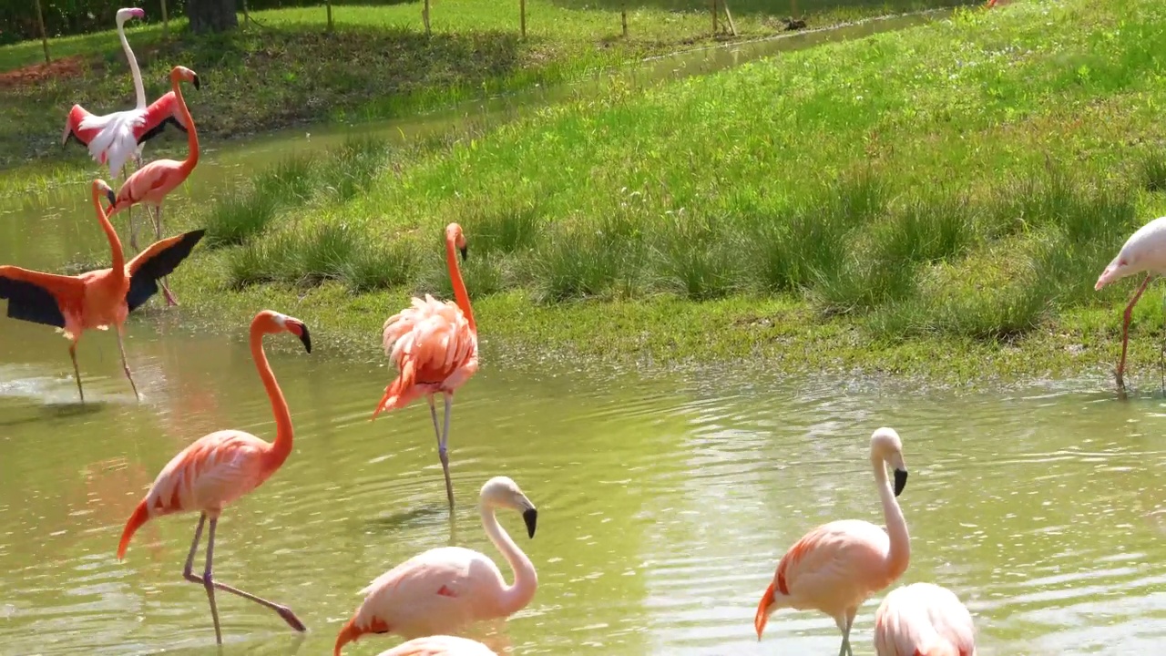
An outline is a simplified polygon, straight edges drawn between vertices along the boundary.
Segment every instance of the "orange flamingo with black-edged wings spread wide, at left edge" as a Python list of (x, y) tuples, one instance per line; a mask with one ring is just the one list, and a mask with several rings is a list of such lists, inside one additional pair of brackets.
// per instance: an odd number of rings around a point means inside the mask
[(97, 211), (101, 230), (110, 239), (113, 258), (110, 268), (89, 271), (80, 275), (57, 275), (19, 266), (0, 266), (0, 299), (8, 299), (8, 316), (55, 326), (69, 340), (69, 356), (73, 361), (73, 375), (77, 377), (77, 392), (82, 403), (85, 403), (85, 390), (80, 386), (80, 369), (77, 367), (77, 342), (83, 332), (93, 328), (105, 330), (110, 326), (118, 330), (121, 368), (138, 397), (138, 385), (129, 374), (122, 341), (126, 315), (157, 292), (157, 279), (187, 259), (205, 232), (195, 230), (162, 239), (126, 263), (118, 232), (101, 210), (103, 195), (112, 200), (113, 190), (104, 180), (94, 180), (93, 210)]

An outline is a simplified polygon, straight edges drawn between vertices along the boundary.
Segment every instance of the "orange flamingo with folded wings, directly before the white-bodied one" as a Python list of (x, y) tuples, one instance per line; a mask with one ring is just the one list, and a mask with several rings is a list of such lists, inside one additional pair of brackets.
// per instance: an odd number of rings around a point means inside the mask
[[(198, 74), (185, 67), (174, 67), (170, 70), (170, 86), (174, 89), (174, 97), (178, 105), (178, 116), (187, 126), (187, 145), (190, 151), (187, 153), (187, 159), (181, 162), (176, 160), (154, 160), (139, 168), (118, 189), (117, 198), (112, 201), (108, 209), (110, 217), (113, 217), (119, 211), (138, 203), (153, 207), (154, 235), (156, 239), (162, 238), (162, 202), (166, 201), (170, 191), (174, 191), (180, 184), (187, 181), (190, 172), (195, 170), (195, 166), (198, 165), (198, 131), (195, 128), (195, 119), (190, 117), (187, 100), (182, 97), (182, 88), (178, 85), (178, 82), (183, 79), (194, 84), (195, 89), (198, 89)], [(129, 242), (133, 245), (138, 239), (136, 229), (131, 224), (129, 230)], [(178, 305), (177, 299), (170, 293), (170, 287), (167, 285), (166, 278), (162, 279), (162, 292), (166, 295), (168, 306)]]

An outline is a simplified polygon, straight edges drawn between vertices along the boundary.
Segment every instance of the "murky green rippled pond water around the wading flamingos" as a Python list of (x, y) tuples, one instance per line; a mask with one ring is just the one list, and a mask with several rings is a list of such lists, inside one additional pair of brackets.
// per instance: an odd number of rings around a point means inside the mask
[[(729, 50), (718, 53), (705, 56)], [(380, 130), (408, 138), (442, 125)], [(212, 193), (343, 132), (213, 147), (187, 191)], [(0, 197), (0, 261), (51, 271), (101, 249), (84, 184)], [(781, 379), (764, 363), (617, 370), (507, 351), (490, 326), (480, 332), (482, 369), (454, 407), (452, 522), (424, 405), (368, 421), (393, 371), (326, 339), (308, 355), (290, 335), (268, 337), (295, 451), (224, 514), (216, 578), (287, 603), (309, 633), (219, 594), (223, 654), (330, 654), (358, 591), (429, 547), (480, 550), (510, 579), (475, 509), (494, 475), (513, 477), (539, 505), (533, 539), (520, 517), (501, 516), (539, 591), (508, 621), (466, 635), (517, 655), (836, 654), (823, 615), (784, 610), (760, 643), (752, 617), (802, 533), (837, 518), (881, 523), (868, 462), (881, 425), (902, 435), (912, 472), (900, 497), (912, 563), (897, 585), (956, 592), (981, 654), (1161, 650), (1166, 404), (1156, 389), (1128, 398), (1095, 382), (920, 390)], [(148, 523), (122, 563), (114, 551), (156, 473), (192, 440), (219, 428), (274, 438), (246, 326), (209, 330), (155, 296), (127, 324), (127, 350), (141, 402), (113, 335), (87, 333), (82, 406), (66, 342), (0, 317), (2, 655), (219, 652), (205, 593), (181, 574), (195, 515)], [(859, 612), (857, 655), (873, 654), (883, 594)], [(398, 642), (368, 637), (345, 654)]]

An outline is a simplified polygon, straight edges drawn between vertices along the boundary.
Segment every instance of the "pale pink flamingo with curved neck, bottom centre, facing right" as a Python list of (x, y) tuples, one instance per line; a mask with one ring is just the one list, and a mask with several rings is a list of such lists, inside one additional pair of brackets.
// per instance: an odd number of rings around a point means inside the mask
[(532, 538), (539, 512), (506, 476), (486, 481), (480, 496), (482, 524), (514, 570), (514, 585), (506, 585), (494, 561), (477, 551), (461, 546), (430, 549), (360, 591), (364, 603), (336, 636), (333, 656), (365, 634), (393, 633), (405, 638), (450, 634), (470, 622), (510, 616), (531, 602), (539, 575), (531, 559), (498, 524), (494, 510), (521, 512)]

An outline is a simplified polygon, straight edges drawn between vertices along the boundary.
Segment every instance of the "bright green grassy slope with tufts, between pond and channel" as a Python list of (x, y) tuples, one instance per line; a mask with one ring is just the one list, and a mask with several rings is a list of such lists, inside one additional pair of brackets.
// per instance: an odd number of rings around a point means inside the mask
[[(484, 334), (520, 344), (947, 379), (1103, 371), (1129, 288), (1091, 284), (1166, 209), (1164, 28), (1150, 0), (1018, 4), (612, 89), (393, 168), (356, 148), (288, 175), (358, 189), (268, 212), (178, 289), (206, 315), (280, 305), (372, 348), (406, 292), (448, 295), (438, 236), (456, 219)], [(368, 258), (388, 273), (350, 265)], [(1136, 323), (1157, 333), (1158, 303)], [(1157, 344), (1133, 347), (1145, 367)]]

